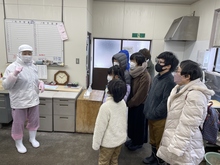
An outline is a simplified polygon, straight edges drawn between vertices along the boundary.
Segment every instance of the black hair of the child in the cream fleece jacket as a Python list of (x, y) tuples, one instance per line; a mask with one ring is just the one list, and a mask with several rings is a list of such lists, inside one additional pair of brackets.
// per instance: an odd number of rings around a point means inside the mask
[(120, 102), (124, 98), (126, 91), (126, 84), (120, 79), (113, 79), (108, 84), (108, 93), (112, 95), (116, 103)]

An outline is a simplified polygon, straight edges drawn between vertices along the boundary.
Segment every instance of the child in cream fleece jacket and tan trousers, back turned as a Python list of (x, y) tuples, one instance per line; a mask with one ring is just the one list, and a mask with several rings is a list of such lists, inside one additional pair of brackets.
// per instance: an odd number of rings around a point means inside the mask
[(92, 148), (99, 150), (98, 164), (118, 164), (122, 144), (127, 138), (127, 106), (123, 100), (126, 84), (120, 79), (109, 82), (106, 102), (99, 109)]

